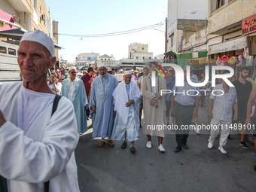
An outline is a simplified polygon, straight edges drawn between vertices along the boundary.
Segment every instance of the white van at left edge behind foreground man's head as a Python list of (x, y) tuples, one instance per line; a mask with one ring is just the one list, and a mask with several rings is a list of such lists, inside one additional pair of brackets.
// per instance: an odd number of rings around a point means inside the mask
[(2, 84), (22, 81), (17, 61), (19, 46), (0, 41), (0, 82)]

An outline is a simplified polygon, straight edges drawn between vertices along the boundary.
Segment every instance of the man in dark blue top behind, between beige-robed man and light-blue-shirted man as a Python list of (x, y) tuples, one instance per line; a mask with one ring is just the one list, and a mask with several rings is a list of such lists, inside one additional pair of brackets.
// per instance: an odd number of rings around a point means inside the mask
[[(175, 86), (175, 71), (172, 67), (170, 67), (167, 70), (167, 78), (166, 80), (166, 90), (173, 90), (173, 87)], [(166, 99), (166, 122), (167, 126), (169, 126), (169, 111), (172, 107), (172, 94), (166, 94), (165, 96)], [(171, 117), (172, 117), (172, 125), (174, 123), (174, 114), (171, 112)]]

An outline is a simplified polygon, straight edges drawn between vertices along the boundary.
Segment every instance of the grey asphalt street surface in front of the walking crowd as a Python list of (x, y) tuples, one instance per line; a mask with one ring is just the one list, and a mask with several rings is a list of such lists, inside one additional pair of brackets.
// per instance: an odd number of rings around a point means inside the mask
[[(193, 121), (194, 122), (194, 121)], [(87, 124), (90, 125), (88, 120)], [(206, 110), (199, 108), (199, 124), (207, 124)], [(232, 135), (224, 147), (227, 154), (218, 151), (218, 139), (212, 149), (207, 148), (209, 132), (200, 135), (190, 131), (188, 150), (178, 154), (175, 135), (163, 138), (165, 152), (158, 151), (157, 136), (152, 137), (152, 148), (146, 148), (147, 136), (140, 129), (135, 142), (136, 154), (130, 152), (130, 142), (121, 149), (122, 142), (108, 142), (102, 147), (100, 139), (92, 138), (93, 129), (80, 136), (75, 157), (78, 182), (84, 191), (255, 191), (254, 147), (239, 145), (239, 135)], [(193, 133), (193, 134), (192, 134)]]

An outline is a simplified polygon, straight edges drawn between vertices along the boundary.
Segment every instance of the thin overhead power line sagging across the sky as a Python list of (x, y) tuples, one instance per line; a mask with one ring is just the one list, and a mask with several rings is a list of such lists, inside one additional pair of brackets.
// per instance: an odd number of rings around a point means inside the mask
[(144, 26), (141, 28), (137, 28), (137, 29), (130, 29), (130, 30), (126, 30), (123, 32), (111, 32), (111, 33), (105, 33), (105, 34), (96, 34), (96, 35), (73, 35), (73, 34), (63, 34), (63, 33), (58, 33), (58, 35), (65, 35), (65, 36), (71, 36), (71, 37), (79, 37), (79, 38), (99, 38), (99, 37), (109, 37), (109, 36), (115, 36), (115, 35), (125, 35), (125, 34), (129, 34), (129, 33), (133, 33), (133, 32), (140, 32), (143, 30), (147, 30), (147, 29), (151, 29), (157, 26), (163, 26), (163, 22), (161, 23), (156, 23), (154, 25), (151, 26)]

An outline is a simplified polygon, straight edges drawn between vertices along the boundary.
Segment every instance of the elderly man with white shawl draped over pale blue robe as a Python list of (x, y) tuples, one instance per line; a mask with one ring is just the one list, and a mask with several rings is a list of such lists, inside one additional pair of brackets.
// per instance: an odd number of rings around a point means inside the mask
[(115, 88), (114, 127), (112, 139), (123, 141), (121, 148), (126, 148), (126, 136), (130, 142), (130, 151), (136, 152), (134, 141), (139, 139), (139, 87), (133, 81), (132, 72), (124, 72), (124, 81)]

